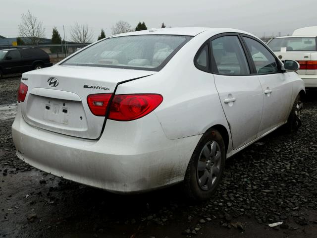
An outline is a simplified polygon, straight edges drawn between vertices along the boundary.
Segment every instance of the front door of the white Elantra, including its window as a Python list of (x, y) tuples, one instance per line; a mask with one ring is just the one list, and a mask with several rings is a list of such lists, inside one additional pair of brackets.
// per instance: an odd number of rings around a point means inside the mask
[(286, 121), (292, 98), (292, 82), (287, 73), (281, 72), (278, 60), (264, 43), (247, 35), (243, 35), (243, 40), (263, 89), (260, 136)]

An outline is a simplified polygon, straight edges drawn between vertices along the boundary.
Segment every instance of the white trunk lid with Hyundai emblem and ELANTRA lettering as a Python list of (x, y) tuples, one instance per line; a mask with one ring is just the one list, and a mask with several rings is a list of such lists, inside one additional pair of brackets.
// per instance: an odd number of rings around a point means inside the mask
[(114, 93), (120, 82), (145, 77), (155, 72), (145, 70), (60, 66), (34, 70), (22, 75), (28, 86), (21, 103), (25, 121), (49, 131), (87, 139), (97, 139), (105, 117), (92, 114), (87, 96)]

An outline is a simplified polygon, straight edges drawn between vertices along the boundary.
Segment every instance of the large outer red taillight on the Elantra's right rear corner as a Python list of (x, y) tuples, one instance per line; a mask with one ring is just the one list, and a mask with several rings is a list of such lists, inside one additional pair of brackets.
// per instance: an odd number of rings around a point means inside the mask
[(135, 120), (144, 117), (156, 109), (163, 101), (159, 94), (122, 94), (114, 95), (109, 119)]

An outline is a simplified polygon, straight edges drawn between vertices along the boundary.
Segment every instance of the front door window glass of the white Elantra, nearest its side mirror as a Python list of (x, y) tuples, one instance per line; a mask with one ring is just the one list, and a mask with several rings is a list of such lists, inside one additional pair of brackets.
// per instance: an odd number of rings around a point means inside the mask
[(243, 38), (251, 53), (257, 73), (275, 73), (280, 71), (272, 53), (270, 53), (260, 42), (248, 37)]

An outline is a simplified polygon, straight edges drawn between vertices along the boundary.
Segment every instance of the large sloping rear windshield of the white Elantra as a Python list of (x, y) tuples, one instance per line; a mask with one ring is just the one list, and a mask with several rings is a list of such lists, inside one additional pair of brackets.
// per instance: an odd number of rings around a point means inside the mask
[(66, 60), (83, 65), (159, 71), (192, 37), (138, 35), (108, 38)]

